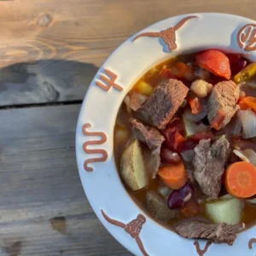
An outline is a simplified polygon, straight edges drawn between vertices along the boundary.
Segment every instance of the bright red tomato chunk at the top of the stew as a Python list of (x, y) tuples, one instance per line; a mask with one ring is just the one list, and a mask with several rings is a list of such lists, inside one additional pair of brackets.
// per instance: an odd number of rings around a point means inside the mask
[(200, 67), (206, 68), (209, 72), (219, 77), (230, 79), (230, 61), (224, 53), (217, 49), (208, 49), (195, 57)]

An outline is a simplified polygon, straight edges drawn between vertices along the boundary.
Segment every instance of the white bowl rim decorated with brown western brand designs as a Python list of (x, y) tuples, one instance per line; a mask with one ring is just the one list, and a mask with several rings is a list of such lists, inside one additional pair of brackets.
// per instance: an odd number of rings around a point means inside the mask
[[(179, 24), (187, 17), (191, 19)], [(162, 39), (167, 29), (172, 44)], [(154, 33), (137, 38), (142, 32)], [(91, 82), (79, 114), (76, 154), (91, 207), (108, 231), (136, 255), (255, 255), (256, 245), (253, 247), (253, 241), (249, 244), (256, 237), (255, 227), (242, 232), (231, 247), (210, 245), (207, 241), (178, 236), (137, 207), (121, 183), (115, 165), (113, 127), (119, 106), (131, 86), (150, 67), (174, 55), (214, 48), (248, 54), (249, 59), (256, 61), (256, 36), (253, 38), (256, 22), (235, 15), (180, 15), (161, 20), (142, 32), (108, 57)], [(102, 74), (108, 81), (102, 81)]]

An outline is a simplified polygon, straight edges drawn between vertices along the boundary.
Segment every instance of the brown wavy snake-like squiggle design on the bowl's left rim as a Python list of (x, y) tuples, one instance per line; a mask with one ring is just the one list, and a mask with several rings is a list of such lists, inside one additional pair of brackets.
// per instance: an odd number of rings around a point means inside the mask
[(97, 140), (97, 141), (89, 141), (84, 143), (83, 149), (86, 154), (102, 154), (102, 157), (98, 158), (90, 158), (88, 160), (84, 161), (84, 170), (87, 172), (92, 172), (93, 168), (88, 166), (90, 163), (94, 162), (104, 162), (108, 159), (108, 153), (104, 149), (88, 149), (87, 146), (89, 145), (101, 145), (103, 143), (106, 143), (107, 141), (107, 135), (104, 132), (93, 132), (93, 131), (86, 131), (87, 128), (90, 128), (90, 124), (84, 124), (82, 131), (84, 136), (100, 136), (102, 139)]

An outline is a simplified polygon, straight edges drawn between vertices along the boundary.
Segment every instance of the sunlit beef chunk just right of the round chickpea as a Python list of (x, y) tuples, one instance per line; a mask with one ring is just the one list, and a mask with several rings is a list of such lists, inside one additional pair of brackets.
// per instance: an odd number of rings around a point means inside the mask
[(207, 102), (208, 120), (210, 124), (218, 117), (218, 111), (224, 114), (224, 120), (219, 126), (219, 129), (230, 123), (230, 119), (239, 109), (239, 106), (236, 105), (239, 93), (239, 86), (233, 81), (219, 82), (213, 87), (212, 94)]

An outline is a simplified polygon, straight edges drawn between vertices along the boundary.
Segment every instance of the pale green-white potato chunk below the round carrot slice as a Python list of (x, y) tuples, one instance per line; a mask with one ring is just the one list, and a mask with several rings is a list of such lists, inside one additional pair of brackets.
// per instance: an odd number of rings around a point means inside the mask
[(239, 224), (241, 221), (241, 201), (232, 198), (207, 202), (206, 212), (216, 224)]

